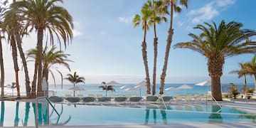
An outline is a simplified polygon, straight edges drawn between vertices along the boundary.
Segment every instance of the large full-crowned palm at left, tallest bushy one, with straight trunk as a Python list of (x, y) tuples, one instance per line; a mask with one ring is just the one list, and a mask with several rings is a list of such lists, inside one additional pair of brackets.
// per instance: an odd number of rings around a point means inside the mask
[(35, 63), (35, 68), (38, 68), (38, 96), (43, 95), (41, 85), (43, 33), (48, 32), (51, 44), (54, 43), (53, 36), (57, 37), (58, 43), (60, 43), (60, 38), (62, 38), (65, 46), (73, 38), (73, 18), (66, 9), (58, 6), (59, 2), (63, 3), (63, 0), (28, 0), (16, 2), (18, 9), (23, 13), (22, 16), (28, 20), (27, 26), (31, 28), (29, 31), (36, 29), (38, 37), (38, 64)]

